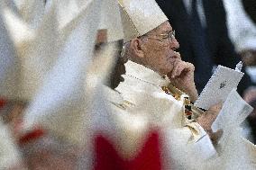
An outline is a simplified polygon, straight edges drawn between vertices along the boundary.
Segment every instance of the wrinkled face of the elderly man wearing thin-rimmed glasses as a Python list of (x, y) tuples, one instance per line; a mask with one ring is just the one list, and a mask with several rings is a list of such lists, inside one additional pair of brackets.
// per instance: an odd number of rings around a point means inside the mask
[(175, 52), (179, 45), (169, 22), (162, 23), (141, 39), (144, 46), (142, 50), (146, 67), (151, 68), (160, 75), (167, 75), (171, 72), (174, 62), (180, 56)]

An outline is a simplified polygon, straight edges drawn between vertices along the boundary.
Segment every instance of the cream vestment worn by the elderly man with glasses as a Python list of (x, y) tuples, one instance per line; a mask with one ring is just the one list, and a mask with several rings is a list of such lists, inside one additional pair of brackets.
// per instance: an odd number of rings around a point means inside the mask
[[(206, 131), (185, 117), (184, 101), (166, 94), (161, 85), (169, 81), (151, 69), (129, 61), (124, 82), (116, 89), (123, 99), (133, 103), (134, 115), (146, 115), (163, 136), (164, 157), (171, 169), (197, 169), (201, 161), (214, 157), (215, 148)], [(197, 155), (197, 157), (195, 157)], [(168, 169), (168, 168), (167, 168)]]

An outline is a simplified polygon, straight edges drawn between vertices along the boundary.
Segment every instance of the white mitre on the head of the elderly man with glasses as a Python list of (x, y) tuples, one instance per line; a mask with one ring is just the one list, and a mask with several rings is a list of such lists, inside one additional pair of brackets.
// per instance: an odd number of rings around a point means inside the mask
[(124, 41), (140, 37), (168, 21), (155, 0), (118, 0)]

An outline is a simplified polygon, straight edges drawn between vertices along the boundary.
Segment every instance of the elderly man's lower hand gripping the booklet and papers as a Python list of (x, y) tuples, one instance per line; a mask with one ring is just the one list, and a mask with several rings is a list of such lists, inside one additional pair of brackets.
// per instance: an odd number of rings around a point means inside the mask
[(202, 114), (199, 118), (197, 118), (197, 123), (200, 124), (204, 130), (206, 130), (206, 133), (209, 135), (210, 139), (212, 139), (213, 143), (216, 143), (223, 133), (222, 130), (214, 133), (211, 128), (221, 109), (222, 103), (215, 104), (210, 107), (210, 109), (207, 110), (205, 114)]

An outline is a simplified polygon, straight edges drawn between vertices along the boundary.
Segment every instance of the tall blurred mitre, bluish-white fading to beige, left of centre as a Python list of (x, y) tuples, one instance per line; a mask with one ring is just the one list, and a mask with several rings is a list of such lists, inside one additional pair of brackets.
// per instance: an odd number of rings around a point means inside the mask
[(25, 112), (24, 129), (41, 126), (59, 139), (84, 144), (87, 140), (85, 79), (91, 62), (101, 0), (87, 5), (83, 20), (70, 33), (39, 93)]

